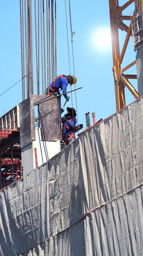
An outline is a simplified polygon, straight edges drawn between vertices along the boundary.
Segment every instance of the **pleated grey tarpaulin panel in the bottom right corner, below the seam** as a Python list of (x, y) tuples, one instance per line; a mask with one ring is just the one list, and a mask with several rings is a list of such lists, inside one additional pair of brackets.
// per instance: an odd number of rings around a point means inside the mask
[(143, 185), (85, 218), (88, 256), (143, 255)]

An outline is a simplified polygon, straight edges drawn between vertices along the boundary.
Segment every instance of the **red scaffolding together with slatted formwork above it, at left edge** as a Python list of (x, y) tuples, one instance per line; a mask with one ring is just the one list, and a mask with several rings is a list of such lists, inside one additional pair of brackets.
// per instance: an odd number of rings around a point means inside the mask
[(0, 189), (22, 177), (19, 106), (0, 118)]

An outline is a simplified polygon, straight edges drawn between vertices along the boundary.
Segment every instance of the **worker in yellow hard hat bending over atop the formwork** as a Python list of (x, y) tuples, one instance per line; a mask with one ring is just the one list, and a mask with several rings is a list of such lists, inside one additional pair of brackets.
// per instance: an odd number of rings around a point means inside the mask
[[(58, 95), (60, 95), (61, 93), (59, 92), (59, 89), (63, 90), (63, 93), (67, 92), (67, 85), (68, 83), (70, 85), (76, 83), (77, 79), (75, 76), (65, 76), (65, 75), (60, 75), (57, 76), (52, 83), (49, 86), (49, 95), (57, 92)], [(48, 90), (46, 90), (47, 92), (45, 94), (48, 94)], [(67, 94), (65, 93), (63, 95), (65, 97), (65, 99), (67, 101), (69, 101), (70, 97), (67, 96)]]

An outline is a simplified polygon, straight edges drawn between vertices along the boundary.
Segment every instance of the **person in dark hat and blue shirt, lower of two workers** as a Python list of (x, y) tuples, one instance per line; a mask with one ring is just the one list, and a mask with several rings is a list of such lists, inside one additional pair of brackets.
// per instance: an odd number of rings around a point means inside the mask
[(75, 126), (76, 126), (76, 110), (74, 108), (67, 107), (67, 114), (62, 117), (63, 123), (63, 141), (64, 145), (68, 146), (75, 138)]

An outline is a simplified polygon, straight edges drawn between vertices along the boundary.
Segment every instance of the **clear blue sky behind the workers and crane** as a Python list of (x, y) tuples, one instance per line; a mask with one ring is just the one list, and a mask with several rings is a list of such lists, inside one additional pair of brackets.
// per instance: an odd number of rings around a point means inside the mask
[[(106, 119), (116, 112), (115, 89), (113, 78), (113, 56), (110, 34), (110, 16), (108, 0), (99, 1), (70, 1), (72, 16), (74, 68), (72, 53), (70, 54), (70, 69), (67, 50), (67, 31), (65, 22), (65, 0), (57, 0), (57, 75), (71, 74), (75, 71), (77, 77), (76, 88), (82, 89), (72, 93), (72, 99), (65, 105), (77, 110), (78, 124), (86, 129), (85, 113), (90, 113), (90, 123), (93, 124), (92, 112), (95, 120)], [(104, 4), (103, 4), (104, 2)], [(126, 1), (120, 1), (121, 5)], [(67, 1), (68, 7), (69, 1)], [(134, 4), (128, 13), (134, 11)], [(68, 20), (69, 22), (69, 20)], [(20, 7), (19, 0), (0, 2), (0, 117), (22, 101), (21, 80), (21, 46), (20, 46)], [(70, 36), (70, 27), (69, 36)], [(101, 33), (100, 33), (101, 32)], [(108, 33), (107, 33), (108, 32)], [(122, 32), (122, 31), (121, 31)], [(120, 33), (120, 32), (119, 32)], [(109, 36), (108, 36), (109, 35)], [(123, 34), (124, 35), (124, 34)], [(125, 34), (126, 35), (126, 34)], [(124, 36), (121, 38), (123, 45)], [(69, 47), (72, 47), (69, 38)], [(130, 49), (125, 63), (128, 65), (135, 60), (136, 52), (130, 40)], [(136, 67), (131, 74), (136, 74)], [(14, 85), (17, 83), (16, 85)], [(35, 81), (34, 81), (35, 83)], [(137, 90), (137, 81), (134, 82)], [(14, 85), (14, 86), (13, 86)], [(10, 90), (8, 90), (13, 86)], [(74, 87), (72, 87), (72, 90)], [(7, 91), (6, 91), (7, 90)], [(67, 88), (67, 91), (70, 87)], [(6, 92), (5, 92), (6, 91)], [(3, 93), (4, 92), (4, 93)], [(71, 95), (69, 94), (71, 97)], [(126, 92), (126, 105), (134, 101)], [(65, 98), (61, 98), (61, 107)]]

